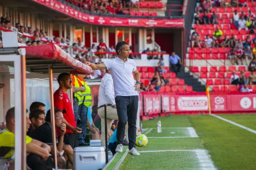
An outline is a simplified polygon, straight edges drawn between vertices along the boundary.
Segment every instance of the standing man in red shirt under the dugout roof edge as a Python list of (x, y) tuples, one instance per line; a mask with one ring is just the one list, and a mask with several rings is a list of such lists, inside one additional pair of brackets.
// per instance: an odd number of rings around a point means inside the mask
[[(77, 127), (75, 116), (72, 110), (67, 90), (72, 88), (72, 78), (69, 73), (61, 73), (58, 76), (59, 89), (54, 92), (54, 108), (62, 110), (63, 116), (66, 119), (67, 130), (64, 135), (64, 144), (70, 145), (72, 148), (78, 147), (77, 134), (82, 132), (82, 129)], [(60, 135), (58, 129), (58, 136)]]

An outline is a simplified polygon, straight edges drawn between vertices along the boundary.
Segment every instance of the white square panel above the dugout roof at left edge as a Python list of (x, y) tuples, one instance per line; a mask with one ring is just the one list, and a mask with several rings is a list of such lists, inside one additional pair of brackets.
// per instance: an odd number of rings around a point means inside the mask
[(2, 31), (2, 47), (13, 48), (18, 47), (17, 32), (4, 32)]

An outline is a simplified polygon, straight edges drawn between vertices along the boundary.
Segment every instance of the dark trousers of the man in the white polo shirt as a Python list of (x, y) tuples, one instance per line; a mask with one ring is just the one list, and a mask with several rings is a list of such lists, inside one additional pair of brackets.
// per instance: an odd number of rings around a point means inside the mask
[(136, 119), (138, 111), (139, 96), (120, 96), (116, 98), (116, 108), (118, 115), (117, 124), (117, 144), (122, 144), (124, 141), (124, 129), (128, 121), (128, 137), (129, 137), (129, 149), (135, 147), (136, 142)]

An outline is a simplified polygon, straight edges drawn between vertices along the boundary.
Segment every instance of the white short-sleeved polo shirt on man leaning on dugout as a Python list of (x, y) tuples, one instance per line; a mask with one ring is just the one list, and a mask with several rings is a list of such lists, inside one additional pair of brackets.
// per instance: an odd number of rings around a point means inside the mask
[(134, 60), (127, 59), (123, 62), (119, 57), (105, 62), (106, 68), (111, 71), (114, 82), (114, 97), (117, 95), (139, 95), (135, 90), (135, 80), (132, 73), (137, 69)]

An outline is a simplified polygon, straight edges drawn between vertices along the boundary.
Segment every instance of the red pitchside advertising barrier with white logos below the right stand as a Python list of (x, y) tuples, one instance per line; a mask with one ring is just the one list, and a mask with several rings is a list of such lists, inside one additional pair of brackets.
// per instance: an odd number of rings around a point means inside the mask
[[(208, 114), (205, 92), (166, 93), (141, 92), (140, 118), (149, 119), (171, 114)], [(210, 93), (211, 113), (255, 113), (256, 92)]]

